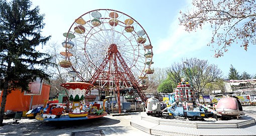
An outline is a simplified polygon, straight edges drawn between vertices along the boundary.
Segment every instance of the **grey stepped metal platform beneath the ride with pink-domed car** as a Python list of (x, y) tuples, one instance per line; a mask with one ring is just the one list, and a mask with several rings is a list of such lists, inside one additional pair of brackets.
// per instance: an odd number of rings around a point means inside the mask
[(231, 120), (192, 121), (165, 119), (147, 115), (134, 116), (130, 124), (153, 135), (255, 135), (255, 118), (241, 116)]

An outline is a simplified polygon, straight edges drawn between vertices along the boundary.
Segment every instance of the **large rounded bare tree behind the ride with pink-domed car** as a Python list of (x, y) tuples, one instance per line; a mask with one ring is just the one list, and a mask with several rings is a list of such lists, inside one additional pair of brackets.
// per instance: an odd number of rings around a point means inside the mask
[(169, 78), (172, 81), (178, 84), (182, 77), (185, 78), (198, 91), (198, 96), (203, 92), (205, 85), (219, 79), (221, 73), (217, 65), (209, 64), (207, 60), (198, 58), (174, 62), (168, 70)]

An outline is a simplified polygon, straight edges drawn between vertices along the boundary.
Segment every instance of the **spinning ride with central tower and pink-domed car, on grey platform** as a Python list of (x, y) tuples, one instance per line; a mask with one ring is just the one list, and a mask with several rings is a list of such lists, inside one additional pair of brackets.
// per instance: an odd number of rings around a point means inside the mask
[(225, 97), (218, 101), (216, 109), (211, 109), (196, 101), (196, 91), (189, 82), (182, 78), (181, 82), (174, 88), (174, 93), (169, 94), (169, 98), (164, 100), (167, 106), (164, 108), (158, 99), (151, 97), (146, 101), (146, 113), (148, 115), (158, 115), (167, 118), (185, 117), (193, 120), (208, 117), (216, 119), (239, 118), (244, 115), (242, 105), (238, 98)]

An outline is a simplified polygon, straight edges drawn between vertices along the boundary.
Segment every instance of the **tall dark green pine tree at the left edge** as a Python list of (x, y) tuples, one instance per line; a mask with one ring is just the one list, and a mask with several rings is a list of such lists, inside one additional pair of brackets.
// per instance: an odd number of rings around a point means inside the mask
[(39, 7), (31, 8), (30, 0), (0, 0), (0, 89), (2, 102), (0, 126), (3, 126), (7, 95), (14, 88), (29, 91), (29, 83), (37, 77), (49, 79), (43, 68), (51, 65), (51, 57), (35, 49), (46, 44), (43, 37), (44, 15)]

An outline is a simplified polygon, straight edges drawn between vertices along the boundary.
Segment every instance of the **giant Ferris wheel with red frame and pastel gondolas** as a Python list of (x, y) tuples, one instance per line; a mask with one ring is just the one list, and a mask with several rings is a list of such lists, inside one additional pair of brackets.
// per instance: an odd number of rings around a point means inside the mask
[(62, 42), (65, 59), (80, 80), (102, 90), (147, 89), (146, 74), (154, 72), (150, 38), (133, 17), (113, 9), (96, 9), (74, 19)]

